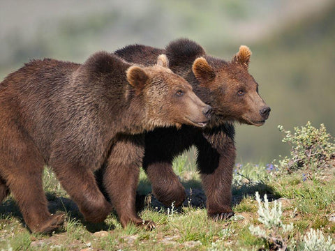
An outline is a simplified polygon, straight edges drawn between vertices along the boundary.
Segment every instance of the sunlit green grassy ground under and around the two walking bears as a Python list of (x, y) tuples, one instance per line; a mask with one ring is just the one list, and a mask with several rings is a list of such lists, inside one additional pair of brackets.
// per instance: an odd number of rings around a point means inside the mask
[[(181, 182), (191, 188), (200, 188), (199, 175), (185, 156), (174, 161), (174, 171)], [(327, 172), (326, 172), (327, 174)], [(145, 231), (129, 225), (123, 229), (112, 213), (104, 224), (85, 222), (73, 202), (61, 189), (49, 169), (45, 170), (45, 191), (55, 203), (55, 211), (65, 211), (66, 225), (51, 235), (31, 234), (13, 198), (3, 201), (0, 211), (0, 250), (260, 250), (269, 243), (251, 234), (250, 225), (260, 226), (255, 191), (267, 194), (269, 200), (279, 197), (283, 201), (283, 222), (293, 222), (291, 240), (299, 247), (301, 236), (308, 229), (321, 229), (325, 236), (335, 236), (335, 223), (329, 215), (335, 213), (334, 169), (328, 175), (309, 176), (302, 173), (276, 176), (266, 165), (237, 165), (233, 183), (233, 209), (237, 217), (227, 222), (214, 222), (207, 218), (204, 208), (155, 208), (147, 205), (140, 216), (156, 222), (154, 231)], [(150, 192), (144, 172), (140, 175), (139, 189)], [(60, 201), (61, 198), (61, 202)], [(57, 203), (55, 201), (58, 201)], [(271, 202), (270, 202), (271, 204)]]

